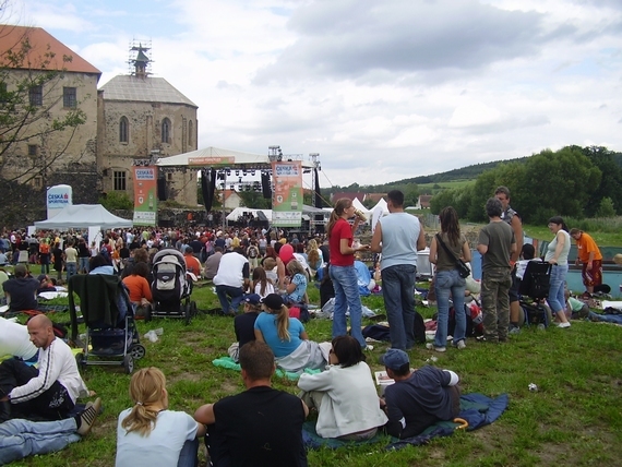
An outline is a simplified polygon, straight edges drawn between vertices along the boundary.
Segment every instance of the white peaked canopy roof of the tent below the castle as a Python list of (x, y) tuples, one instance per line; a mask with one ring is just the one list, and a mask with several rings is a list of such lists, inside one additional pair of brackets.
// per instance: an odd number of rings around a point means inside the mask
[(51, 219), (35, 223), (37, 230), (85, 229), (96, 226), (113, 229), (133, 225), (132, 220), (113, 215), (101, 204), (74, 204), (67, 206)]

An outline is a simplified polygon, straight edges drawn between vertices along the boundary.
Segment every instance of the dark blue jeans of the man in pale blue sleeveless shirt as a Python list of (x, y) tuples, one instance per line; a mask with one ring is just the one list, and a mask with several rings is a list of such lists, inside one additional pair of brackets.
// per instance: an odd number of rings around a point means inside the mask
[(417, 266), (396, 264), (381, 271), (382, 297), (388, 321), (391, 348), (415, 346), (415, 276)]

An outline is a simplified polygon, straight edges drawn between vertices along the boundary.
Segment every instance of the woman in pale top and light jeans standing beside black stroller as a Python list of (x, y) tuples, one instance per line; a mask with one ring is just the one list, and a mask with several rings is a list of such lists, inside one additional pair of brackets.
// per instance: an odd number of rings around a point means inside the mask
[(549, 285), (549, 306), (559, 320), (558, 327), (570, 327), (571, 324), (564, 313), (564, 284), (569, 272), (569, 252), (571, 248), (569, 228), (564, 219), (554, 216), (549, 219), (549, 230), (555, 236), (549, 243), (545, 261), (551, 263), (551, 279)]

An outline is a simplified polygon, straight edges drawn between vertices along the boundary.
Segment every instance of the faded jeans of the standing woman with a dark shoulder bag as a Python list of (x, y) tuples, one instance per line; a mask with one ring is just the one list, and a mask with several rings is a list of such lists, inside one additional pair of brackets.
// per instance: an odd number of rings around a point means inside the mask
[(450, 294), (454, 302), (454, 311), (456, 316), (454, 345), (458, 340), (463, 340), (465, 338), (465, 286), (466, 280), (459, 276), (458, 270), (439, 271), (436, 273), (436, 277), (434, 278), (434, 288), (436, 291), (436, 307), (439, 309), (439, 318), (436, 320), (436, 335), (434, 337), (434, 347), (445, 347), (447, 345)]

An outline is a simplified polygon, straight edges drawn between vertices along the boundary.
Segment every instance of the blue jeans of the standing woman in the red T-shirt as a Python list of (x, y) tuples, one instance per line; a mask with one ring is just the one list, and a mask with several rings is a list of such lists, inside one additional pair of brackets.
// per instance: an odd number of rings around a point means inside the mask
[(361, 316), (362, 306), (359, 294), (359, 283), (355, 266), (334, 266), (328, 270), (333, 288), (335, 289), (335, 310), (333, 312), (333, 337), (348, 334), (348, 320), (346, 312), (350, 311), (351, 336), (361, 347), (367, 343), (362, 335)]

